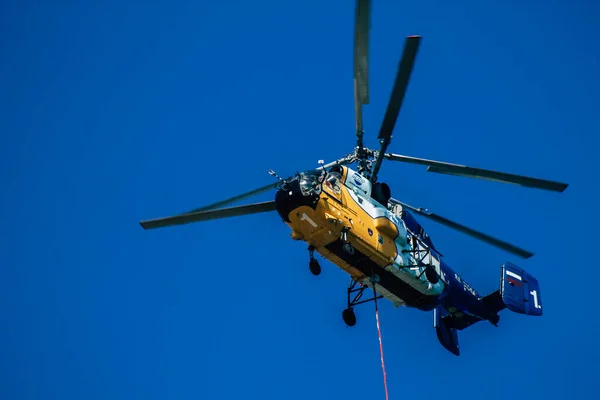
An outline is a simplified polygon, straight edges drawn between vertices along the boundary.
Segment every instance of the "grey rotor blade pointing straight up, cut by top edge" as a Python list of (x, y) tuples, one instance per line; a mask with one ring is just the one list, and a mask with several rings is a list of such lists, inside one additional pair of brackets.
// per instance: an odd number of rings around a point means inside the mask
[(354, 109), (357, 146), (363, 147), (362, 106), (369, 104), (369, 29), (371, 0), (356, 1), (354, 22)]

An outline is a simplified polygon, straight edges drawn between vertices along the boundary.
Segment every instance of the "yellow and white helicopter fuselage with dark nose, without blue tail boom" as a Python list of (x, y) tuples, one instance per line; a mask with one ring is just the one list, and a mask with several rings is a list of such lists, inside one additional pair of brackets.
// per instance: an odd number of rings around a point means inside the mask
[[(419, 266), (415, 250), (428, 249), (399, 215), (370, 197), (367, 179), (345, 166), (337, 176), (330, 175), (320, 178), (312, 196), (298, 193), (297, 187), (281, 189), (276, 196), (292, 238), (308, 243), (356, 282), (372, 287), (371, 278), (377, 276), (375, 290), (394, 305), (432, 308), (444, 282), (433, 285)], [(428, 261), (437, 260), (430, 256)], [(437, 265), (439, 271), (439, 261)]]

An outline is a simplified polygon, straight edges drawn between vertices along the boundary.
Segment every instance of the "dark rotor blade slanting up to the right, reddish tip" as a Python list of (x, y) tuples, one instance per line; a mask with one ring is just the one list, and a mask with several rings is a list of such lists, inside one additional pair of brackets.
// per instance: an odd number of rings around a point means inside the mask
[(408, 36), (404, 43), (404, 53), (402, 54), (402, 59), (398, 65), (394, 88), (392, 89), (390, 101), (388, 103), (385, 116), (383, 117), (381, 129), (379, 130), (379, 136), (377, 136), (379, 142), (381, 143), (381, 148), (377, 154), (377, 159), (373, 165), (373, 170), (371, 171), (372, 182), (377, 181), (377, 173), (381, 168), (383, 155), (385, 154), (388, 145), (392, 141), (392, 133), (394, 131), (394, 127), (396, 126), (398, 115), (400, 114), (400, 107), (404, 101), (404, 94), (406, 93), (406, 89), (408, 87), (408, 81), (415, 63), (415, 58), (417, 57), (417, 51), (419, 50), (420, 43), (420, 36)]

